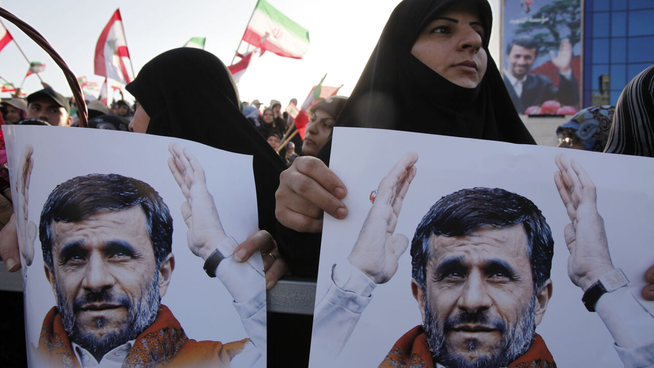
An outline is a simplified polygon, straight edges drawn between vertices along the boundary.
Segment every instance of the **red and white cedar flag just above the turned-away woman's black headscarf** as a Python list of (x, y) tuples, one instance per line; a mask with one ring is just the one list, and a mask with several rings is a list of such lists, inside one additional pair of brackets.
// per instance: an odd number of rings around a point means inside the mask
[[(128, 84), (131, 79), (123, 58), (129, 59), (129, 51), (120, 10), (116, 9), (95, 45), (95, 74)], [(131, 63), (131, 60), (129, 62)]]

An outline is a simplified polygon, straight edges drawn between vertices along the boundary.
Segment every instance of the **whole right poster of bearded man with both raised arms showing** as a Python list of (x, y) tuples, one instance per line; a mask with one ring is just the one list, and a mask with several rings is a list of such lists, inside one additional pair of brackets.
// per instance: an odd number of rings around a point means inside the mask
[(324, 220), (310, 367), (654, 359), (651, 158), (353, 128), (333, 144), (349, 214)]

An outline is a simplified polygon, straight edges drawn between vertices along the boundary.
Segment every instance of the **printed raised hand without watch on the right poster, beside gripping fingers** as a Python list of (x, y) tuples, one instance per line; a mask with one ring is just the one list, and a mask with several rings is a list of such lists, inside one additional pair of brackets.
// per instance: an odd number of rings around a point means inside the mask
[(375, 284), (390, 280), (398, 269), (398, 259), (409, 244), (403, 234), (393, 234), (402, 201), (415, 177), (418, 154), (410, 152), (381, 180), (372, 208), (361, 228), (348, 260)]

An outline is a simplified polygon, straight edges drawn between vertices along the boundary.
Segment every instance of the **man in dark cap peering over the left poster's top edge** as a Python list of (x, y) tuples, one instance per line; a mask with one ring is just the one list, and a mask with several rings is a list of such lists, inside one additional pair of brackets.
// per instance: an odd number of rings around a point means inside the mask
[(27, 96), (27, 119), (39, 119), (50, 125), (71, 126), (71, 105), (67, 98), (50, 87)]

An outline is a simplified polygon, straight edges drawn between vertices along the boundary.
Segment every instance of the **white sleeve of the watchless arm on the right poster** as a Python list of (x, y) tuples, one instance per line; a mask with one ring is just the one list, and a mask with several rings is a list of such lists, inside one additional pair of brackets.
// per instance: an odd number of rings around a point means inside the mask
[(313, 314), (312, 361), (332, 361), (341, 353), (376, 286), (349, 262), (332, 266), (331, 281)]

